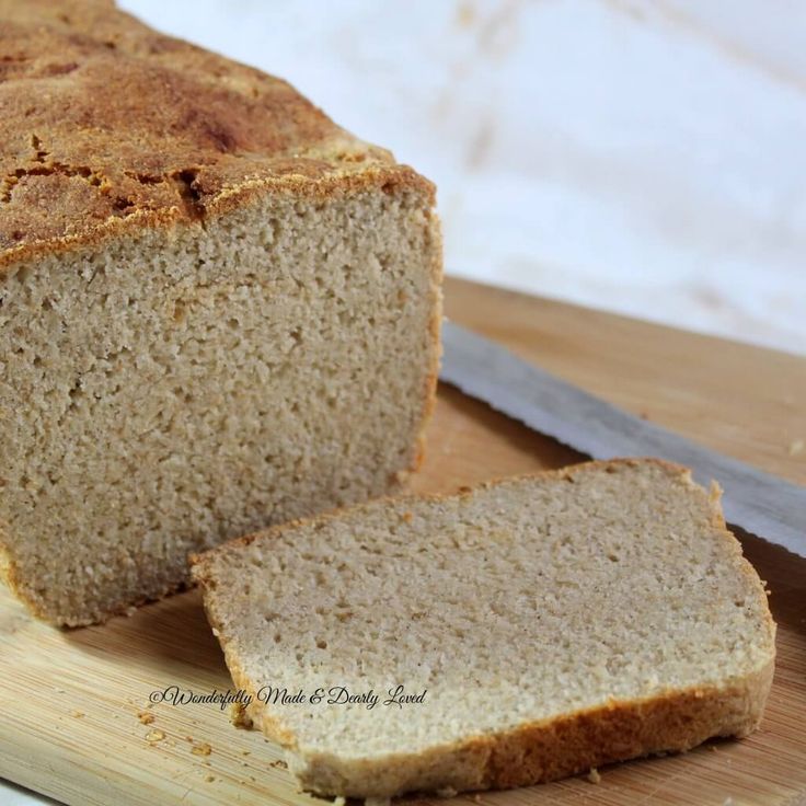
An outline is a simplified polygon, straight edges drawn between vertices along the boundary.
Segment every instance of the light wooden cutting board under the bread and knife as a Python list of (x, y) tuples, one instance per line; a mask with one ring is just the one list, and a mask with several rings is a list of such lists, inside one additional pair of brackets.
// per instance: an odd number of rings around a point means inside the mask
[[(806, 485), (804, 358), (459, 280), (447, 284), (447, 312), (632, 412)], [(428, 438), (417, 491), (580, 459), (448, 388)], [(483, 793), (482, 804), (806, 804), (806, 560), (740, 537), (779, 623), (761, 730), (608, 767), (598, 784), (578, 776)], [(104, 806), (313, 804), (296, 792), (276, 748), (234, 729), (217, 705), (150, 706), (150, 692), (170, 686), (230, 687), (196, 591), (62, 632), (2, 590), (0, 676), (0, 775), (38, 792)]]

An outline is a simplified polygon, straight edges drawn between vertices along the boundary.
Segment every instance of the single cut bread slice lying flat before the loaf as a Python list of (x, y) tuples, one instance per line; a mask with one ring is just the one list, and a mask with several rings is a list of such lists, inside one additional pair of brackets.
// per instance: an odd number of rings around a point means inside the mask
[(519, 786), (745, 736), (772, 679), (718, 494), (655, 460), (373, 502), (194, 562), (250, 715), (323, 795)]

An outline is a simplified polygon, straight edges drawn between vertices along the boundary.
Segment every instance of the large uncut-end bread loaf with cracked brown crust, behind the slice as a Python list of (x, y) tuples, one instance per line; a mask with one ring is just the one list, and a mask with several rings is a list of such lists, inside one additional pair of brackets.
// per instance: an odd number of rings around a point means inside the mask
[(37, 614), (393, 487), (439, 326), (434, 188), (111, 2), (0, 0), (0, 557)]

